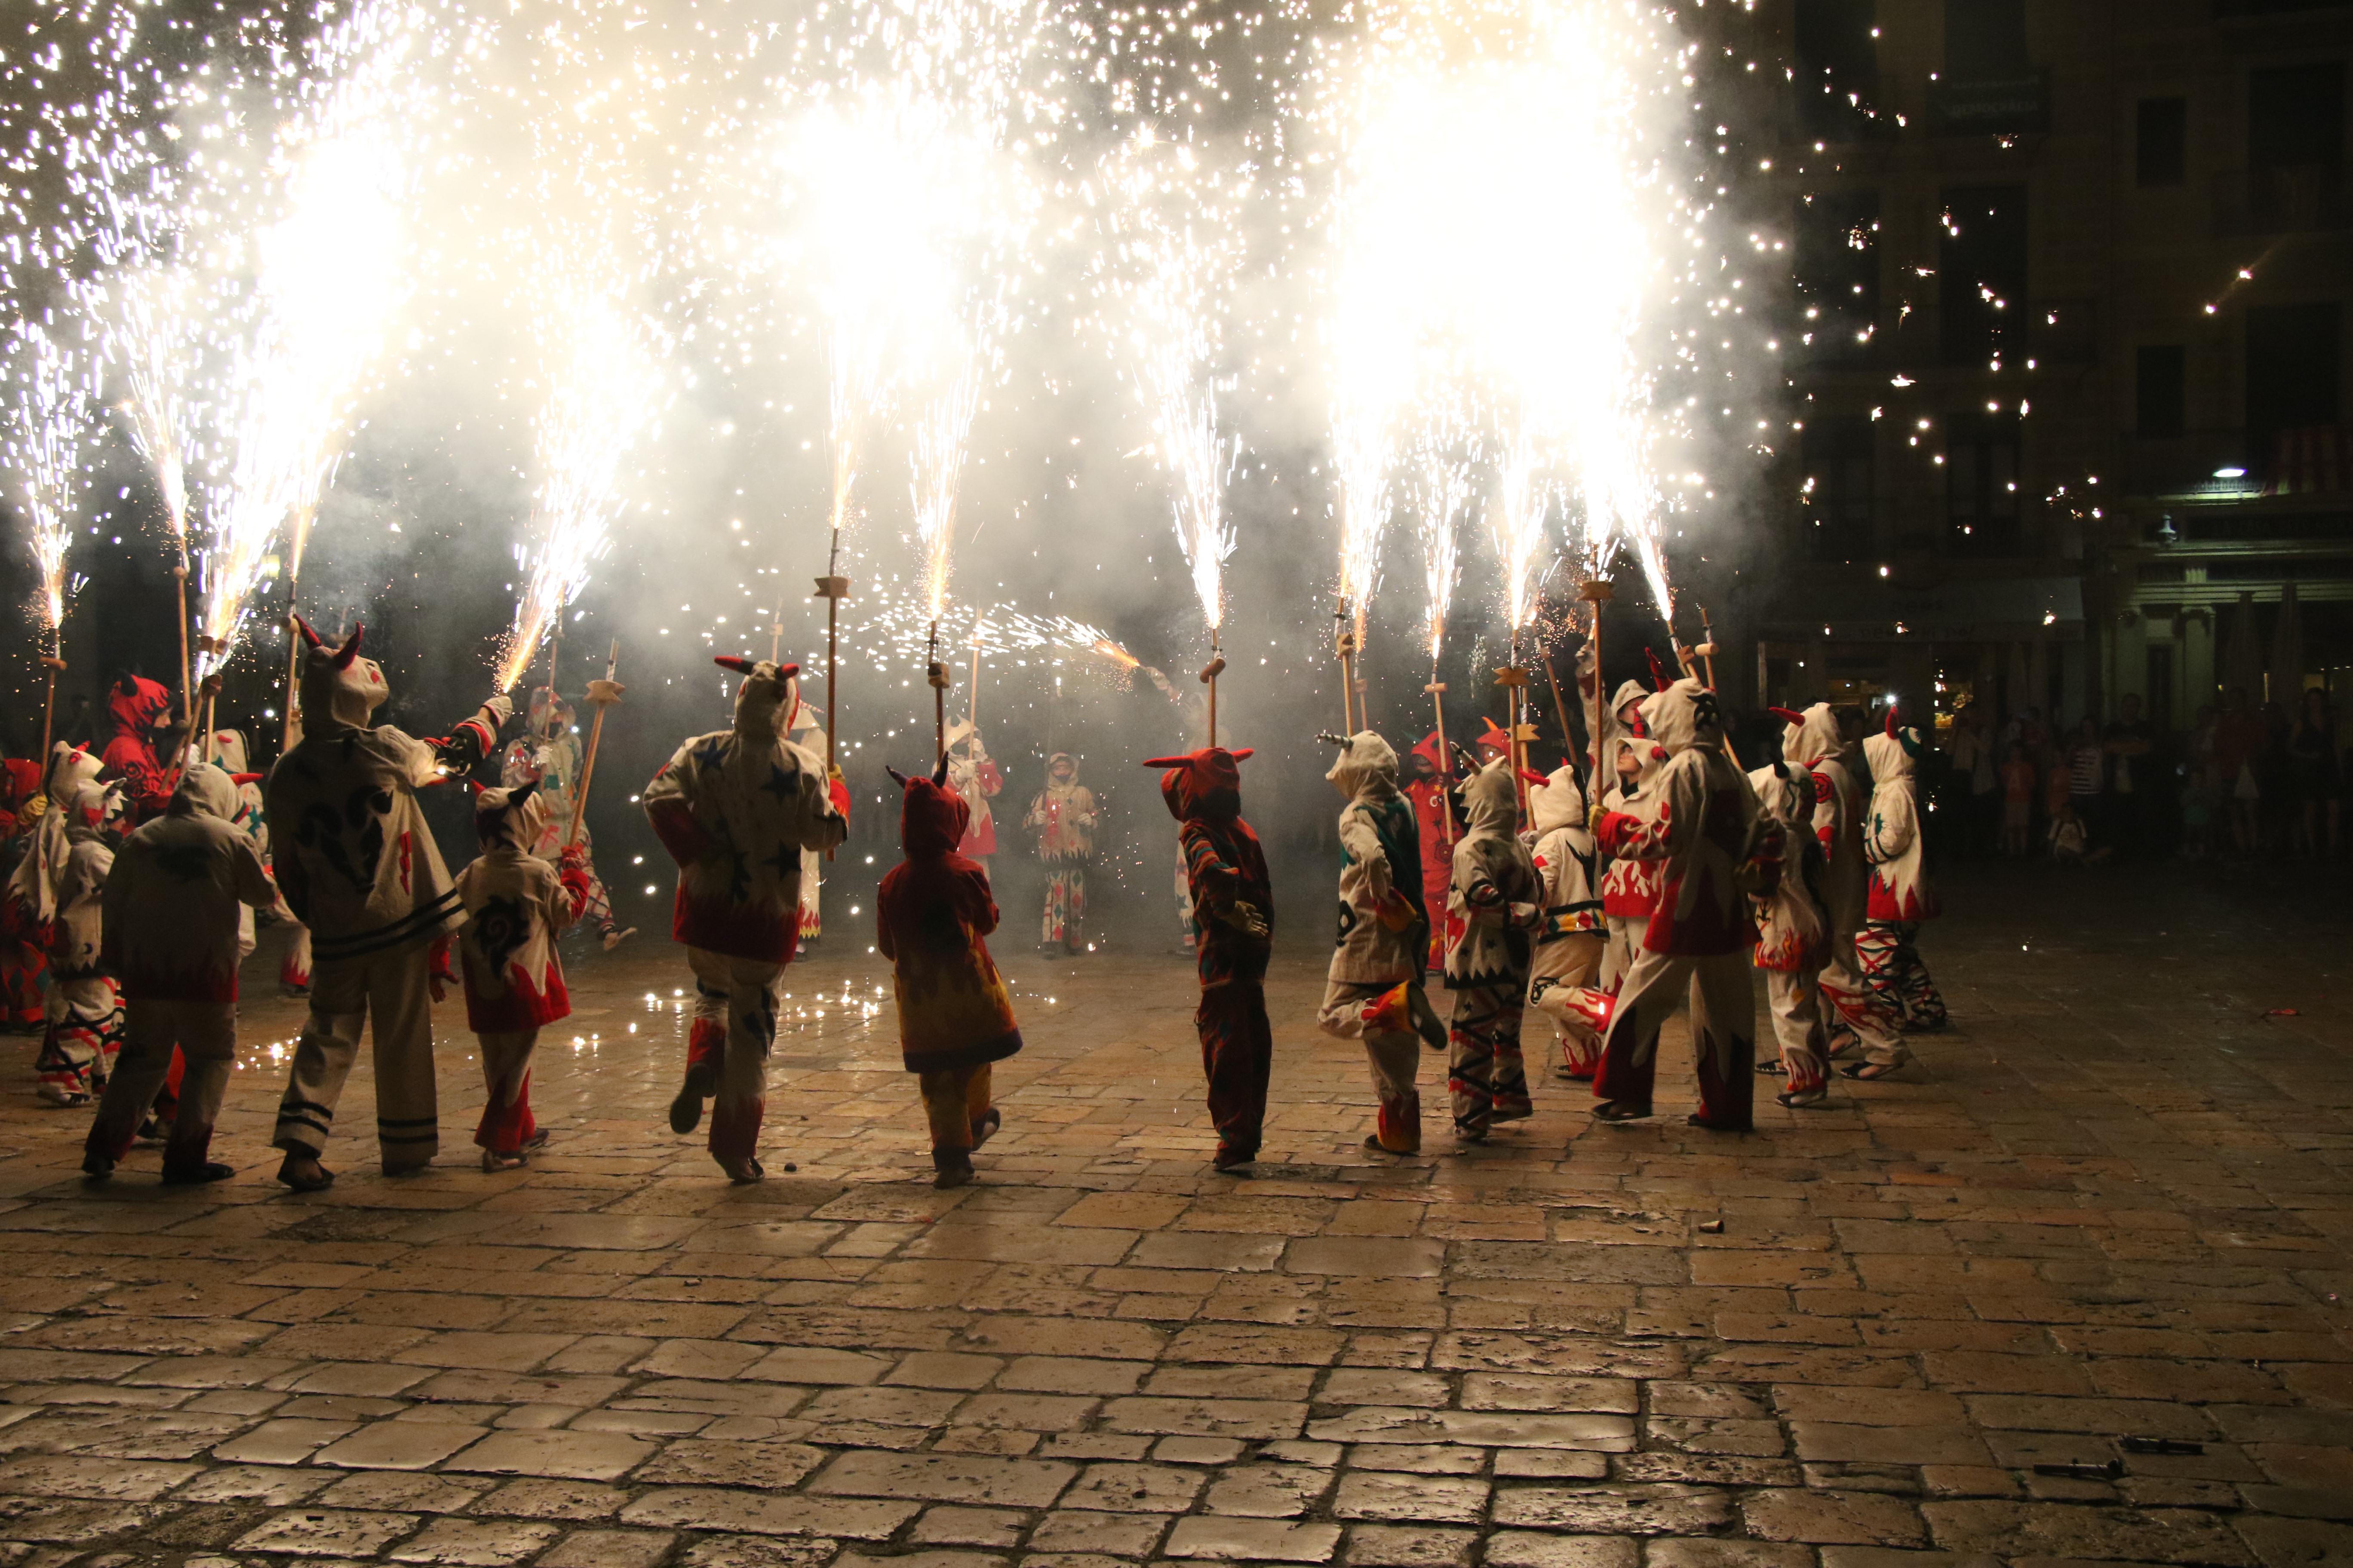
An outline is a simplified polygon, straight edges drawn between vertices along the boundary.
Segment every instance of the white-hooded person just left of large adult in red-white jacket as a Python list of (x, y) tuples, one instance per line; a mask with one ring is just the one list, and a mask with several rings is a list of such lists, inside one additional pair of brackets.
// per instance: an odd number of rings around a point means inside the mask
[(1600, 898), (1602, 851), (1586, 825), (1579, 771), (1553, 769), (1551, 778), (1527, 790), (1527, 811), (1537, 825), (1534, 863), (1544, 903), (1527, 964), (1527, 1006), (1553, 1020), (1560, 1039), (1555, 1072), (1591, 1081), (1609, 1027), (1609, 992), (1600, 985), (1609, 926)]

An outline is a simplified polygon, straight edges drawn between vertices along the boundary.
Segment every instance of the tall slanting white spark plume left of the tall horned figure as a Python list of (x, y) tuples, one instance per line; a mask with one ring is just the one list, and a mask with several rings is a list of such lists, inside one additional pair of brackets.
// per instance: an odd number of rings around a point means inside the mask
[(308, 522), (400, 303), (400, 134), (414, 113), (400, 103), (400, 68), (414, 21), (386, 2), (344, 24), (332, 52), (358, 52), (358, 63), (275, 155), (287, 212), (256, 240), (254, 324), (231, 371), (233, 456), (209, 508), (207, 668), (228, 658), (282, 527), (294, 529), (287, 571), (301, 571)]

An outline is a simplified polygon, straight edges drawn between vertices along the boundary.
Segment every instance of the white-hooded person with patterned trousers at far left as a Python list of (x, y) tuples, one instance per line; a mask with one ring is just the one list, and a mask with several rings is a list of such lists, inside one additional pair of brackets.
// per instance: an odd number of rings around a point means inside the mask
[(40, 1037), (33, 1074), (49, 1105), (89, 1105), (113, 1077), (122, 1048), (122, 990), (101, 952), (122, 785), (78, 783), (49, 816), (59, 818), (66, 853), (49, 863), (42, 886), (49, 910), (42, 919), (49, 931), (49, 1027)]

